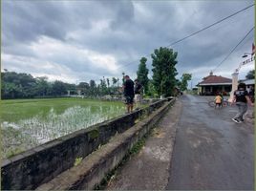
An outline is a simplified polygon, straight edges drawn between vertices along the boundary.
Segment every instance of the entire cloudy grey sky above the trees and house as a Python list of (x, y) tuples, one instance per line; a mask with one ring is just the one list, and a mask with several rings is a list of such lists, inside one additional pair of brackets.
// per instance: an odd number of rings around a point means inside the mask
[[(2, 68), (78, 83), (102, 76), (136, 77), (139, 59), (224, 17), (253, 0), (226, 1), (2, 1)], [(178, 52), (179, 75), (196, 85), (211, 70), (230, 77), (251, 53), (254, 7), (171, 46)], [(218, 65), (220, 67), (216, 68)], [(254, 69), (251, 62), (240, 78)], [(149, 77), (152, 76), (150, 72)]]

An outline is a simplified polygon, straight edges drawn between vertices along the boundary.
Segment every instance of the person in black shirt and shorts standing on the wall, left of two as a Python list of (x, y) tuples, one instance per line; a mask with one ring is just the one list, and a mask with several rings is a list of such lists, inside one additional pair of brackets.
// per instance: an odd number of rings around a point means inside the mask
[(134, 107), (134, 81), (130, 79), (129, 75), (124, 76), (124, 83), (123, 83), (123, 96), (125, 97), (125, 104), (127, 113), (133, 112)]

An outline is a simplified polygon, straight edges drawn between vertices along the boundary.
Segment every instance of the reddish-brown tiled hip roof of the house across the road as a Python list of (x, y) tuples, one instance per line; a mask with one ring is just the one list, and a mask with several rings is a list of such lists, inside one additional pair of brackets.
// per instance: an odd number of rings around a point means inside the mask
[(223, 77), (222, 75), (214, 75), (210, 73), (208, 76), (203, 77), (203, 81), (199, 83), (202, 85), (231, 85), (232, 79)]

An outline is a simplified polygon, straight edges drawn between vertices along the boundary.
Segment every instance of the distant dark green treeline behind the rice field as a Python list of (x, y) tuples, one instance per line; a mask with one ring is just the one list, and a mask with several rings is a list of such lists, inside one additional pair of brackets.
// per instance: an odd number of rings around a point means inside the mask
[(80, 82), (78, 85), (65, 83), (60, 80), (49, 81), (46, 76), (33, 77), (32, 74), (15, 73), (5, 70), (1, 73), (1, 98), (32, 98), (77, 95), (78, 91), (83, 96), (105, 96), (121, 94), (118, 92), (119, 79), (113, 77)]

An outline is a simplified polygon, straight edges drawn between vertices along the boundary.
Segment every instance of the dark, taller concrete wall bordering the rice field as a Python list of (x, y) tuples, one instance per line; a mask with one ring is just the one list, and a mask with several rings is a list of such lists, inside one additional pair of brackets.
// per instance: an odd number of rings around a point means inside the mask
[(1, 166), (1, 189), (35, 189), (40, 184), (53, 180), (63, 171), (73, 167), (76, 158), (85, 158), (99, 145), (107, 143), (117, 133), (126, 131), (136, 124), (139, 117), (150, 115), (166, 101), (167, 99), (162, 99), (130, 115), (56, 138), (11, 159), (5, 159)]

